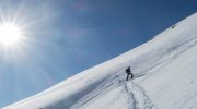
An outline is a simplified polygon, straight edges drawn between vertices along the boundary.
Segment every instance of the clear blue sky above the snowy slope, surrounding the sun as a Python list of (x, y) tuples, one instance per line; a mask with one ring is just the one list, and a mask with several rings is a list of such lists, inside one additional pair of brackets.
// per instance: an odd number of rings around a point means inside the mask
[(0, 107), (121, 55), (196, 11), (195, 0), (0, 0), (0, 22), (22, 25), (28, 38), (0, 47)]

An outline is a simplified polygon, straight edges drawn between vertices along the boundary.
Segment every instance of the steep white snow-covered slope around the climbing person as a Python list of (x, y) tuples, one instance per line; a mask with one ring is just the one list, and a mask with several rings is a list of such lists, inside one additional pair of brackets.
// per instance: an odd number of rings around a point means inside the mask
[[(135, 78), (125, 81), (131, 66)], [(4, 109), (197, 109), (197, 13), (152, 40)]]

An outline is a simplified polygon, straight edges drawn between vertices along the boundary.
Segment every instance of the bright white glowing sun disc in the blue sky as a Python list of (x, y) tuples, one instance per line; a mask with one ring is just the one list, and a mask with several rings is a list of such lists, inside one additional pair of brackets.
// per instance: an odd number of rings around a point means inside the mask
[(20, 26), (14, 23), (0, 24), (0, 46), (13, 47), (22, 41), (23, 33)]

